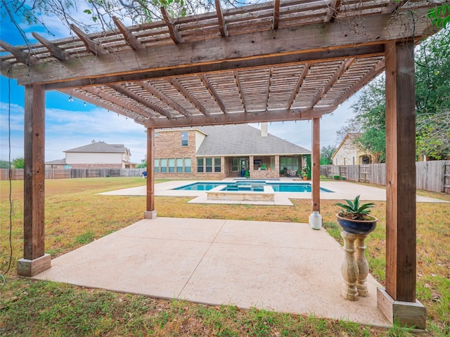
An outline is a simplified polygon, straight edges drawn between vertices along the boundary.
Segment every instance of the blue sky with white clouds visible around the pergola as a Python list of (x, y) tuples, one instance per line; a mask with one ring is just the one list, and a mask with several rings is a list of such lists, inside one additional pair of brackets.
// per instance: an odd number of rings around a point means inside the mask
[[(31, 42), (35, 42), (31, 32), (38, 32), (47, 39), (70, 35), (58, 18), (47, 16), (44, 22), (56, 37), (46, 34), (43, 27), (23, 24), (22, 27)], [(4, 15), (0, 22), (0, 39), (13, 46), (25, 44), (18, 29)], [(24, 157), (24, 88), (18, 86), (15, 79), (1, 76), (0, 94), (0, 159)], [(342, 103), (333, 114), (322, 117), (321, 147), (338, 145), (336, 133), (345, 125), (345, 121), (352, 117), (350, 105), (354, 102), (354, 97)], [(146, 155), (144, 126), (90, 103), (85, 104), (76, 98), (69, 101), (68, 98), (68, 95), (62, 93), (46, 92), (45, 161), (63, 159), (63, 151), (88, 145), (92, 140), (96, 140), (123, 144), (131, 152), (131, 161), (141, 163)], [(259, 128), (257, 124), (250, 125)], [(272, 122), (268, 131), (274, 136), (311, 150), (311, 128), (311, 121)]]

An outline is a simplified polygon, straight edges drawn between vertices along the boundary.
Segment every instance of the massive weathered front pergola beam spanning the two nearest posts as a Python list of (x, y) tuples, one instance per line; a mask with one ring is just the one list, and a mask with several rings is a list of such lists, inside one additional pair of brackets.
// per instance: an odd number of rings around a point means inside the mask
[[(203, 67), (202, 72), (208, 72), (208, 68), (220, 69), (228, 62), (236, 62), (238, 67), (245, 67), (247, 62), (264, 62), (265, 58), (283, 57), (297, 54), (301, 59), (302, 53), (312, 53), (316, 51), (332, 52), (340, 48), (355, 48), (356, 46), (370, 46), (372, 44), (382, 44), (383, 41), (392, 39), (404, 39), (415, 34), (416, 37), (427, 34), (428, 21), (426, 10), (419, 8), (416, 16), (401, 20), (390, 20), (391, 15), (371, 15), (365, 17), (361, 25), (364, 25), (364, 32), (353, 29), (354, 25), (334, 25), (326, 24), (314, 26), (299, 26), (289, 29), (277, 29), (276, 31), (253, 32), (251, 36), (252, 46), (267, 46), (262, 51), (260, 48), (249, 48), (248, 34), (238, 34), (223, 38), (214, 38), (204, 41), (188, 42), (184, 44), (162, 45), (157, 48), (145, 48), (141, 51), (117, 51), (110, 55), (101, 55), (97, 58), (84, 58), (81, 60), (67, 60), (62, 62), (63, 67), (52, 70), (51, 73), (40, 74), (39, 65), (32, 67), (25, 72), (22, 68), (14, 72), (12, 76), (17, 78), (20, 84), (29, 84), (30, 81), (37, 81), (42, 84), (52, 81), (67, 81), (68, 79), (98, 79), (99, 77), (124, 76), (127, 72), (134, 74), (138, 72), (153, 72), (165, 70), (168, 76), (176, 76), (174, 72), (180, 66), (193, 67), (195, 65)], [(414, 20), (409, 22), (408, 20)], [(361, 19), (362, 20), (362, 19)], [(414, 29), (414, 32), (413, 32)], [(276, 39), (274, 39), (276, 34)], [(301, 38), (300, 38), (301, 37)], [(351, 41), (351, 43), (349, 42)], [(205, 51), (208, 51), (205, 53)], [(177, 57), (168, 57), (177, 55)], [(86, 70), (84, 65), (89, 62), (91, 67)], [(34, 69), (37, 71), (34, 72)], [(34, 77), (30, 79), (30, 70)], [(171, 72), (171, 70), (173, 72)]]

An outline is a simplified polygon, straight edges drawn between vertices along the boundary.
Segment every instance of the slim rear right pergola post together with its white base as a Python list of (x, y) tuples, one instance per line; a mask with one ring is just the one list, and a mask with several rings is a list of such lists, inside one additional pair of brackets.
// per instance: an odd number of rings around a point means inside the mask
[[(314, 229), (319, 229), (322, 225), (321, 211), (321, 153), (320, 153), (320, 119), (312, 119), (312, 154), (311, 154), (311, 206), (312, 213), (309, 216), (309, 225)], [(314, 216), (313, 216), (314, 215)], [(320, 227), (319, 224), (320, 223)]]

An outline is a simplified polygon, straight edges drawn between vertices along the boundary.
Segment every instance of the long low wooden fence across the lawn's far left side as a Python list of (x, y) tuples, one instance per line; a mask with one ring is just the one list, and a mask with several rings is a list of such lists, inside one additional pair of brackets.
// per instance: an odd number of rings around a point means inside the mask
[[(46, 169), (46, 179), (140, 177), (146, 169)], [(0, 169), (0, 180), (9, 179), (9, 169)], [(23, 169), (11, 169), (11, 179), (23, 180)]]

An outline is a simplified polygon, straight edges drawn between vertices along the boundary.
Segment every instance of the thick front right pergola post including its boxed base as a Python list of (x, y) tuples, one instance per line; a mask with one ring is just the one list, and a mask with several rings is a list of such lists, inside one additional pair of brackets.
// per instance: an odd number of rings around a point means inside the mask
[(391, 41), (386, 55), (386, 289), (378, 308), (391, 322), (425, 329), (416, 300), (416, 111), (414, 43)]

